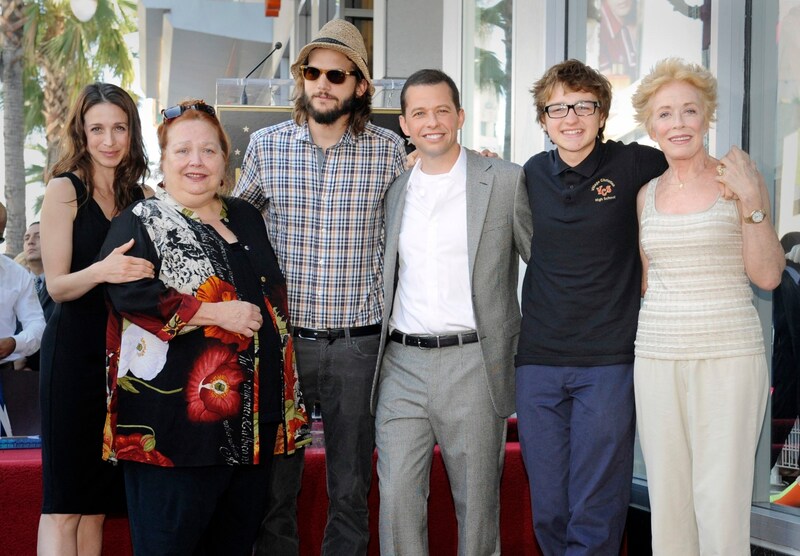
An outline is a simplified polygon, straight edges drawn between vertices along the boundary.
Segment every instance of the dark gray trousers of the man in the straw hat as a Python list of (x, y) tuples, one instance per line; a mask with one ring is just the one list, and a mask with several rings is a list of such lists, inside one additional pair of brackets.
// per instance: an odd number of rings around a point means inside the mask
[[(294, 338), (297, 372), (306, 409), (320, 404), (325, 430), (328, 522), (324, 556), (367, 553), (375, 422), (369, 399), (379, 335), (337, 340)], [(297, 556), (297, 495), (304, 450), (275, 456), (270, 509), (255, 545), (257, 556)]]

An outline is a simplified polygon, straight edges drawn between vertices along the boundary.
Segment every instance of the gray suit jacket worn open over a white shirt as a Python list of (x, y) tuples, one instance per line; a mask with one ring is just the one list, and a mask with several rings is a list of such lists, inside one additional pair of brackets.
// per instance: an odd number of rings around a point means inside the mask
[[(389, 337), (398, 267), (398, 238), (408, 178), (399, 176), (385, 198), (385, 311), (378, 366), (372, 385), (372, 412), (378, 401), (381, 361)], [(517, 297), (519, 257), (528, 261), (533, 224), (525, 175), (516, 164), (467, 151), (467, 246), (472, 308), (483, 354), (486, 380), (500, 417), (515, 411), (514, 353), (522, 319)], [(406, 331), (404, 331), (406, 332)], [(413, 331), (407, 331), (413, 332)]]

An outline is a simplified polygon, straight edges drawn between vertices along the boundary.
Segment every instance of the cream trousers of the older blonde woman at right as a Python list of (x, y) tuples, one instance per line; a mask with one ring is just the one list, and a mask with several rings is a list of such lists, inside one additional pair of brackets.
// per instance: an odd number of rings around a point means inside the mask
[(753, 470), (768, 391), (763, 354), (636, 358), (654, 555), (750, 554)]

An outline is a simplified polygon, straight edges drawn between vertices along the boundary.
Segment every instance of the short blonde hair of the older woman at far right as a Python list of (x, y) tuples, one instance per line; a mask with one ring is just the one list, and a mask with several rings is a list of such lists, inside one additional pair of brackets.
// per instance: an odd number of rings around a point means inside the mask
[(699, 64), (692, 64), (681, 58), (664, 58), (656, 62), (650, 73), (642, 78), (631, 98), (633, 109), (636, 111), (634, 118), (639, 124), (649, 131), (650, 117), (653, 115), (650, 99), (661, 87), (675, 81), (683, 81), (697, 89), (697, 92), (700, 93), (706, 124), (716, 121), (716, 78)]

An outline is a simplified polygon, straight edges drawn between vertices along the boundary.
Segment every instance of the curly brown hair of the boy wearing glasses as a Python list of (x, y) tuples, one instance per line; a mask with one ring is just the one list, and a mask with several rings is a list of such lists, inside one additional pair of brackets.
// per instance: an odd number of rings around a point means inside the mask
[[(585, 91), (596, 96), (597, 102), (600, 103), (600, 119), (603, 121), (608, 119), (608, 113), (611, 110), (611, 83), (596, 69), (587, 66), (580, 60), (570, 59), (551, 66), (530, 89), (536, 106), (536, 119), (543, 128), (545, 127), (544, 107), (558, 85), (561, 85), (566, 91)], [(597, 133), (601, 140), (605, 127), (604, 123)]]

